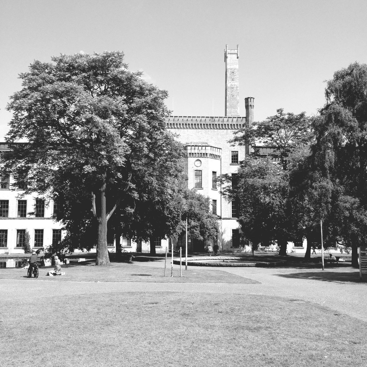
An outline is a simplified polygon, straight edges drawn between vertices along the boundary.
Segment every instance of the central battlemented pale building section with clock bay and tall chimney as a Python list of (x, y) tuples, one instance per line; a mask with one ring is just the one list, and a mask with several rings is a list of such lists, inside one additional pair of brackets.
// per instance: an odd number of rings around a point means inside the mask
[[(254, 98), (245, 99), (246, 116), (239, 116), (239, 47), (224, 51), (225, 116), (169, 116), (167, 128), (177, 134), (185, 145), (185, 169), (188, 187), (208, 196), (214, 214), (218, 215), (217, 241), (220, 250), (238, 251), (239, 225), (236, 203), (220, 195), (216, 178), (236, 174), (239, 162), (248, 155), (248, 147), (231, 146), (229, 140), (239, 128), (251, 125), (254, 119)], [(211, 241), (211, 240), (209, 240)], [(189, 243), (188, 250), (202, 251), (205, 243)]]

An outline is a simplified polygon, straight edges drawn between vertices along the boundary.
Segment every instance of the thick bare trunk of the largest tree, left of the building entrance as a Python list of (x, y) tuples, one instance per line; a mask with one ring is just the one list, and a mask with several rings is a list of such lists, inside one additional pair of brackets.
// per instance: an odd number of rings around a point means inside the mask
[(98, 228), (97, 228), (97, 258), (95, 261), (95, 265), (109, 266), (110, 259), (108, 255), (108, 245), (107, 245), (106, 183), (103, 184), (100, 190), (99, 198), (100, 199), (98, 203), (98, 211), (96, 211)]

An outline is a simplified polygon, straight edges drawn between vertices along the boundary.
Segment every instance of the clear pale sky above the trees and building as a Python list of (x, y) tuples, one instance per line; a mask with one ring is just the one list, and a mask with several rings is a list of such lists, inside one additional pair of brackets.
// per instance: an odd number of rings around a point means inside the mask
[(174, 115), (224, 115), (224, 48), (239, 44), (240, 114), (316, 114), (324, 80), (367, 62), (366, 0), (0, 0), (0, 141), (18, 73), (38, 59), (121, 50)]

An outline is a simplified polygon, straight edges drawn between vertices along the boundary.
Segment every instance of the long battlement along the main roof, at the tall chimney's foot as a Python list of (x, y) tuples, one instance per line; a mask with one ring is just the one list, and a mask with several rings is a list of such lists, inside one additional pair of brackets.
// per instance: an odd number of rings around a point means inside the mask
[(164, 120), (168, 129), (225, 129), (237, 130), (246, 125), (240, 116), (168, 116)]

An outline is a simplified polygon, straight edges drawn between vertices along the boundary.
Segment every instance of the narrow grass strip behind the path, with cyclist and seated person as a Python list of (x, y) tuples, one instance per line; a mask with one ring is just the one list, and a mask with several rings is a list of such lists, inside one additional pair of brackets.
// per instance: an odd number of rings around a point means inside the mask
[(138, 281), (138, 282), (160, 282), (160, 283), (240, 283), (256, 284), (242, 276), (232, 275), (211, 269), (197, 269), (189, 267), (185, 271), (182, 266), (182, 277), (180, 277), (179, 265), (174, 265), (173, 277), (171, 277), (171, 264), (167, 264), (166, 277), (164, 268), (137, 265), (134, 263), (112, 263), (111, 266), (95, 266), (92, 262), (79, 263), (75, 265), (63, 265), (62, 271), (65, 275), (46, 276), (47, 272), (54, 266), (39, 268), (38, 279), (27, 278), (26, 269), (0, 269), (0, 279), (26, 279), (27, 281)]

